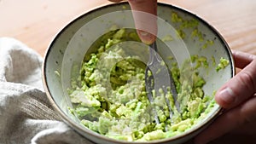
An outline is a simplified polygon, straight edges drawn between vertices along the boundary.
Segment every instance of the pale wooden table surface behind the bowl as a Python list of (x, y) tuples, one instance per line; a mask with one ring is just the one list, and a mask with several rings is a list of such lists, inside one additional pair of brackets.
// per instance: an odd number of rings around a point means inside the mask
[[(231, 49), (256, 55), (255, 0), (159, 1), (199, 15), (218, 29)], [(0, 37), (15, 37), (43, 56), (52, 38), (67, 22), (108, 3), (107, 0), (0, 0)]]

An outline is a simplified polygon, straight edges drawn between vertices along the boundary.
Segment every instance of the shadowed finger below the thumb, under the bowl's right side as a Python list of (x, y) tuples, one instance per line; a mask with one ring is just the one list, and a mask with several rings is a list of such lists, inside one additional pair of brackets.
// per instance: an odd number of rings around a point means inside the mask
[[(220, 115), (206, 130), (195, 137), (195, 144), (206, 144), (231, 130), (256, 120), (256, 97), (243, 103), (240, 107), (230, 109)], [(221, 129), (220, 129), (221, 128)]]

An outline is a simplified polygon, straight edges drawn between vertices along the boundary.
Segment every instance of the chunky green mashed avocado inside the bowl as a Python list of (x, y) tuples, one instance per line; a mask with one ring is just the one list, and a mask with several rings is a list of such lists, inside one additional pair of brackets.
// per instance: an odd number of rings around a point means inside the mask
[[(115, 48), (118, 47), (116, 43), (127, 40), (140, 41), (136, 32), (117, 29), (93, 45), (96, 51), (84, 57), (80, 77), (73, 80), (69, 89), (73, 103), (73, 108), (69, 107), (70, 112), (76, 113), (81, 124), (88, 129), (123, 141), (159, 140), (191, 129), (214, 104), (213, 96), (204, 94), (202, 87), (206, 82), (197, 71), (201, 66), (208, 66), (207, 59), (192, 55), (181, 68), (177, 63), (172, 64), (171, 72), (180, 104), (177, 110), (170, 91), (155, 95), (153, 104), (148, 101), (145, 65), (132, 56), (123, 58), (126, 51)], [(109, 50), (112, 46), (113, 49)], [(101, 64), (102, 59), (104, 65)], [(224, 68), (227, 62), (221, 61), (219, 67)], [(182, 76), (182, 72), (186, 75)], [(172, 112), (163, 105), (165, 98), (170, 101)], [(160, 124), (154, 122), (154, 110)]]

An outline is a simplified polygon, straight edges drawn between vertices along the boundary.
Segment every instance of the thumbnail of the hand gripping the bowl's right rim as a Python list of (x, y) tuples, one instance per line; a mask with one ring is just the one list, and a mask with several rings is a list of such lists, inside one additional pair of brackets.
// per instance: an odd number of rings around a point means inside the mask
[(225, 103), (232, 103), (235, 101), (235, 94), (232, 89), (225, 88), (219, 93), (219, 98)]

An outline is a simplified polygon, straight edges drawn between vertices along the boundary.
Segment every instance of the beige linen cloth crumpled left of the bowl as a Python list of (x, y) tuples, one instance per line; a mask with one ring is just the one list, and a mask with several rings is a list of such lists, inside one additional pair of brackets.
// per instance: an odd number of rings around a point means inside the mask
[(42, 61), (24, 43), (0, 37), (0, 143), (91, 144), (50, 106), (41, 81)]

